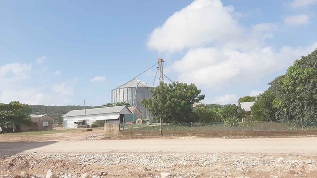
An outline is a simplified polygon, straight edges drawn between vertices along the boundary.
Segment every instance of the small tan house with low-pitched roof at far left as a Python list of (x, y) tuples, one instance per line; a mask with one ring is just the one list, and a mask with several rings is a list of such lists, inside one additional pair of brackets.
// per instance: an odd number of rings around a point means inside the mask
[(53, 117), (47, 114), (35, 115), (31, 114), (30, 119), (32, 121), (31, 126), (24, 124), (17, 125), (17, 132), (27, 132), (27, 131), (52, 131), (53, 130)]

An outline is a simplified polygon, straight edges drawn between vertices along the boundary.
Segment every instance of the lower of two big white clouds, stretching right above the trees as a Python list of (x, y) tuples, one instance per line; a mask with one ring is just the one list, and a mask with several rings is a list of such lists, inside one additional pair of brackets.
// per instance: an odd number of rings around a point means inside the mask
[(219, 88), (233, 81), (249, 82), (290, 66), (299, 56), (306, 55), (317, 43), (306, 47), (284, 46), (278, 51), (271, 46), (240, 52), (215, 47), (189, 50), (170, 68), (181, 82), (204, 88)]

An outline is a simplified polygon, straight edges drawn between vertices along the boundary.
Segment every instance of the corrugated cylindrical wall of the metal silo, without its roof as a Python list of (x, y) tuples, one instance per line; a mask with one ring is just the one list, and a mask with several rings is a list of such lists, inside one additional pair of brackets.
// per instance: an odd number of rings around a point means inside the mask
[[(135, 87), (133, 88), (123, 88), (123, 89), (113, 89), (111, 90), (111, 102), (127, 102), (130, 106), (136, 106), (140, 109), (142, 118), (152, 118), (151, 114), (145, 109), (141, 100), (143, 98), (152, 97), (151, 89), (152, 87), (138, 87), (137, 92), (135, 92)], [(136, 94), (136, 95), (135, 95)], [(134, 99), (134, 102), (133, 102)]]

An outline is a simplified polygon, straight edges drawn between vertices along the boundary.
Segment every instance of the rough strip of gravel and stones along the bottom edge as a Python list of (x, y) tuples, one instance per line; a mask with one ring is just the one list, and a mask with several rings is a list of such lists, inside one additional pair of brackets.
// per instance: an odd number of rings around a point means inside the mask
[(316, 177), (316, 160), (292, 154), (31, 153), (2, 155), (0, 178)]

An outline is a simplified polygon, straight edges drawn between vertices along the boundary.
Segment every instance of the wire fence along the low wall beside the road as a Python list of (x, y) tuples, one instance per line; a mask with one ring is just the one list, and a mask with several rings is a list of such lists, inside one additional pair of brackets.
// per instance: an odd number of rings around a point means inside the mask
[[(317, 121), (273, 121), (273, 122), (236, 122), (236, 123), (162, 123), (162, 131), (298, 131), (317, 130)], [(121, 131), (159, 132), (159, 123), (124, 124)]]

